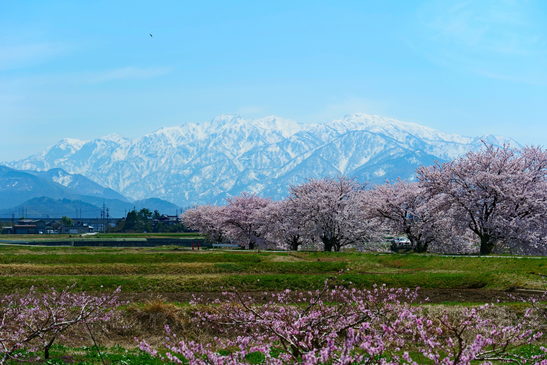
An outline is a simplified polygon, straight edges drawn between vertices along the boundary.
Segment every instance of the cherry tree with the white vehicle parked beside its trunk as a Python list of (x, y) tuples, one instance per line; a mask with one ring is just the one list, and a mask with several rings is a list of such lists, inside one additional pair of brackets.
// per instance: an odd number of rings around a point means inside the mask
[(365, 218), (379, 219), (396, 235), (406, 234), (416, 252), (426, 252), (433, 241), (453, 233), (443, 200), (416, 182), (399, 178), (376, 185), (362, 195), (361, 207)]

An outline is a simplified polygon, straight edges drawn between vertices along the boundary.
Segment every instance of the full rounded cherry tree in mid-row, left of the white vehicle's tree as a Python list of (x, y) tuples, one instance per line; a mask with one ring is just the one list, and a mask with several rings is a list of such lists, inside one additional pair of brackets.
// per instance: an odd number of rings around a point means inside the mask
[(310, 236), (323, 242), (325, 251), (358, 244), (374, 232), (359, 214), (359, 196), (366, 184), (337, 174), (336, 178), (310, 178), (289, 187), (290, 204), (301, 216)]

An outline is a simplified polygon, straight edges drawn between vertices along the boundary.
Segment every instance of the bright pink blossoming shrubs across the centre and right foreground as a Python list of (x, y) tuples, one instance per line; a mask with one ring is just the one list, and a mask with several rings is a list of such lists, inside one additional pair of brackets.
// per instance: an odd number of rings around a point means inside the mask
[[(260, 352), (263, 363), (281, 364), (401, 364), (414, 365), (406, 350), (421, 352), (443, 365), (468, 365), (471, 361), (547, 363), (540, 355), (515, 352), (518, 346), (542, 337), (534, 329), (533, 309), (514, 326), (499, 326), (482, 318), (481, 308), (463, 308), (459, 318), (446, 313), (438, 318), (420, 317), (412, 306), (417, 292), (375, 286), (358, 291), (343, 286), (322, 291), (267, 294), (271, 300), (257, 304), (241, 293), (224, 293), (221, 302), (194, 300), (196, 326), (216, 328), (228, 339), (216, 344), (177, 340), (168, 326), (165, 356), (146, 341), (141, 350), (165, 362), (189, 365), (248, 364), (249, 354)], [(478, 333), (470, 337), (469, 333)], [(214, 349), (224, 349), (218, 351)]]

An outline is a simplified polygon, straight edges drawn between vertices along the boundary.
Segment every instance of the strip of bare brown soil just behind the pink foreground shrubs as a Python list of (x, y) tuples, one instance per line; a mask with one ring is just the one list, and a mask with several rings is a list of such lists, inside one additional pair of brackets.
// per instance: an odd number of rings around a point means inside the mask
[[(264, 292), (246, 292), (246, 296), (251, 296), (258, 303), (269, 302), (272, 293), (269, 292), (267, 296)], [(193, 299), (193, 294), (196, 298), (203, 296), (207, 299), (220, 299), (225, 298), (220, 292), (182, 292), (182, 293), (168, 293), (168, 292), (142, 292), (142, 293), (122, 293), (120, 295), (121, 300), (129, 300), (130, 302), (143, 303), (148, 300), (154, 300), (158, 297), (164, 299), (166, 302), (189, 302)], [(539, 294), (531, 291), (519, 291), (516, 289), (513, 293), (515, 297), (523, 296), (528, 297), (532, 294)], [(486, 289), (420, 289), (418, 291), (417, 302), (425, 302), (426, 298), (429, 298), (429, 303), (443, 303), (443, 302), (466, 302), (466, 303), (496, 303), (499, 302), (515, 302), (514, 299), (509, 298), (508, 294), (503, 291), (486, 290)]]

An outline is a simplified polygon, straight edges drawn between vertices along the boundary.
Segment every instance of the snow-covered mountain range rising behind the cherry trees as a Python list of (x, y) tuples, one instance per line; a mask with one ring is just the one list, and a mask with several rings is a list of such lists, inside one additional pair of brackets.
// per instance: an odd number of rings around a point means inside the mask
[(222, 114), (204, 123), (161, 128), (137, 140), (112, 134), (65, 138), (42, 153), (5, 165), (80, 173), (132, 199), (155, 197), (188, 206), (222, 202), (242, 190), (280, 199), (288, 184), (341, 171), (359, 180), (414, 178), (434, 159), (450, 160), (510, 138), (465, 137), (377, 115), (348, 114), (325, 124)]

